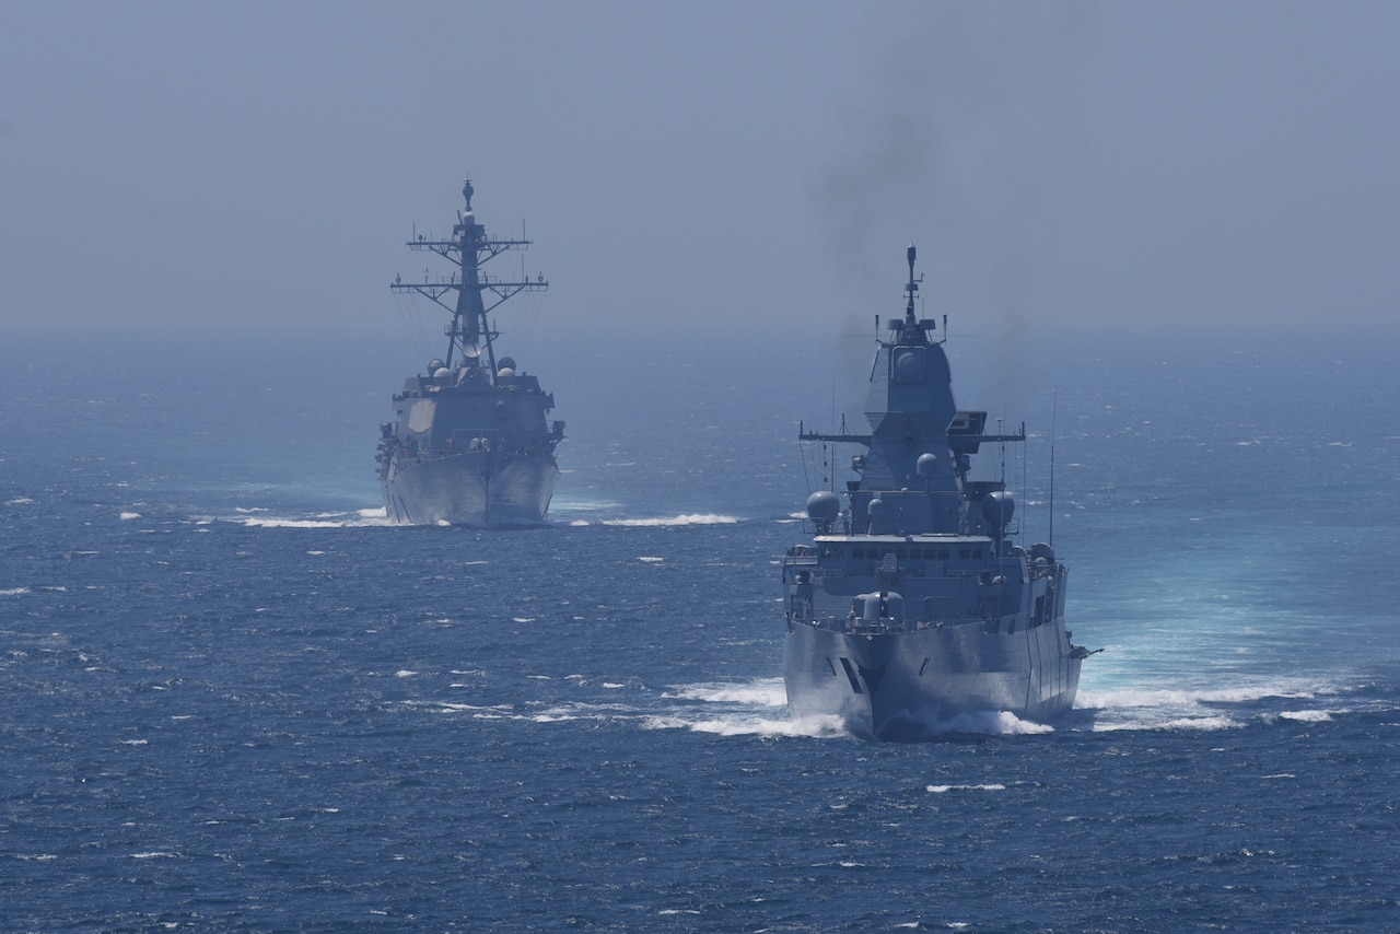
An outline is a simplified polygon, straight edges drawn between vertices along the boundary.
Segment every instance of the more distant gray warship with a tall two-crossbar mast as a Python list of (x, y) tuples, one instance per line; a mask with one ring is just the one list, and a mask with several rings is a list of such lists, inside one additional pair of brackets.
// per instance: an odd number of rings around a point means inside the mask
[(389, 286), (452, 315), (447, 356), (428, 361), (426, 375), (405, 381), (393, 396), (395, 420), (379, 426), (375, 459), (384, 508), (400, 525), (538, 524), (559, 479), (554, 447), (564, 438), (564, 423), (546, 419), (554, 396), (511, 357), (496, 357), (500, 335), (486, 316), (507, 298), (543, 291), (549, 283), (543, 276), (507, 281), (482, 272), (489, 259), (531, 241), (489, 237), (476, 223), (472, 195), (468, 179), (466, 207), (456, 213), (451, 239), (416, 234), (407, 241), (409, 249), (437, 253), (456, 270), (412, 283), (400, 276)]

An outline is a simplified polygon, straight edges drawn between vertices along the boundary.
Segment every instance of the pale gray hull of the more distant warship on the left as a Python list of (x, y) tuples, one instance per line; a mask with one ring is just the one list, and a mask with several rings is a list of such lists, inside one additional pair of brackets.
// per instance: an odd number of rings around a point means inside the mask
[(384, 508), (396, 525), (535, 525), (557, 479), (553, 456), (473, 451), (405, 461), (382, 479)]

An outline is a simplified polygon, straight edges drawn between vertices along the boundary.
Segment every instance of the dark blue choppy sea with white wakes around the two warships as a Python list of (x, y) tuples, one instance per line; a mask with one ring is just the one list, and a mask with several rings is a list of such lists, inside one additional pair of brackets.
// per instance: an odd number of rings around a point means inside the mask
[(955, 328), (1103, 651), (876, 744), (776, 564), (872, 333), (507, 333), (564, 475), (480, 532), (384, 521), (393, 323), (0, 342), (0, 930), (1400, 930), (1400, 332)]

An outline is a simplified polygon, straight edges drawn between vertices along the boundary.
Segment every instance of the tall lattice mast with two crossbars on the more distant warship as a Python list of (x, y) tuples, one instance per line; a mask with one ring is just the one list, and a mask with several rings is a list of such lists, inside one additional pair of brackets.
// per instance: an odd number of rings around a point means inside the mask
[[(416, 291), (449, 311), (452, 321), (445, 332), (448, 336), (445, 365), (451, 370), (454, 356), (461, 353), (463, 365), (472, 370), (480, 367), (482, 343), (484, 343), (487, 378), (494, 384), (496, 349), (491, 342), (497, 332), (491, 330), (486, 318), (487, 312), (522, 291), (545, 291), (549, 288), (549, 283), (545, 281), (543, 276), (538, 276), (535, 281), (528, 279), (505, 281), (482, 273), (482, 266), (489, 259), (508, 249), (525, 249), (532, 241), (496, 239), (487, 235), (486, 228), (476, 223), (476, 214), (472, 210), (473, 193), (472, 179), (466, 179), (462, 183), (466, 209), (456, 213), (452, 239), (428, 239), (419, 234), (406, 244), (409, 249), (427, 249), (442, 256), (456, 266), (458, 272), (447, 279), (438, 277), (437, 281), (424, 277), (424, 281), (420, 283), (403, 281), (403, 277), (398, 276), (389, 288), (399, 293)], [(448, 293), (456, 293), (455, 304), (448, 304), (444, 300)], [(491, 294), (490, 304), (486, 304), (486, 293)]]

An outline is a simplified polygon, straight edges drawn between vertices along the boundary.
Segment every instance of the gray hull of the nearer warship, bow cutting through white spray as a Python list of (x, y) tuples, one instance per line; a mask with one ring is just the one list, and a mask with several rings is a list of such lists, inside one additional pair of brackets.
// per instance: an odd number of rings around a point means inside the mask
[(788, 709), (883, 739), (955, 732), (960, 714), (1047, 723), (1074, 704), (1082, 658), (1071, 651), (1063, 619), (1009, 634), (980, 625), (861, 634), (791, 622)]

